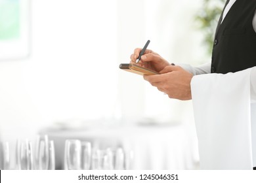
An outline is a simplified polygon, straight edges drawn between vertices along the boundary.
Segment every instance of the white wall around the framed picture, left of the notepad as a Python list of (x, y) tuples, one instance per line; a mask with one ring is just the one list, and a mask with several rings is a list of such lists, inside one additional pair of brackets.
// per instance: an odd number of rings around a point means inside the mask
[(113, 115), (117, 73), (107, 69), (118, 66), (116, 6), (116, 1), (32, 1), (30, 57), (0, 62), (4, 138), (31, 137), (56, 121)]

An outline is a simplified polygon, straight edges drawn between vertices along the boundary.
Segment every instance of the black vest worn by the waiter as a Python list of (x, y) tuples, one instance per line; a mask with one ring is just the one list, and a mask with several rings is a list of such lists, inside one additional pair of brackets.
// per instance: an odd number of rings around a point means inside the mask
[(236, 0), (222, 24), (219, 20), (211, 73), (234, 73), (256, 66), (256, 33), (252, 25), (255, 9), (256, 0)]

